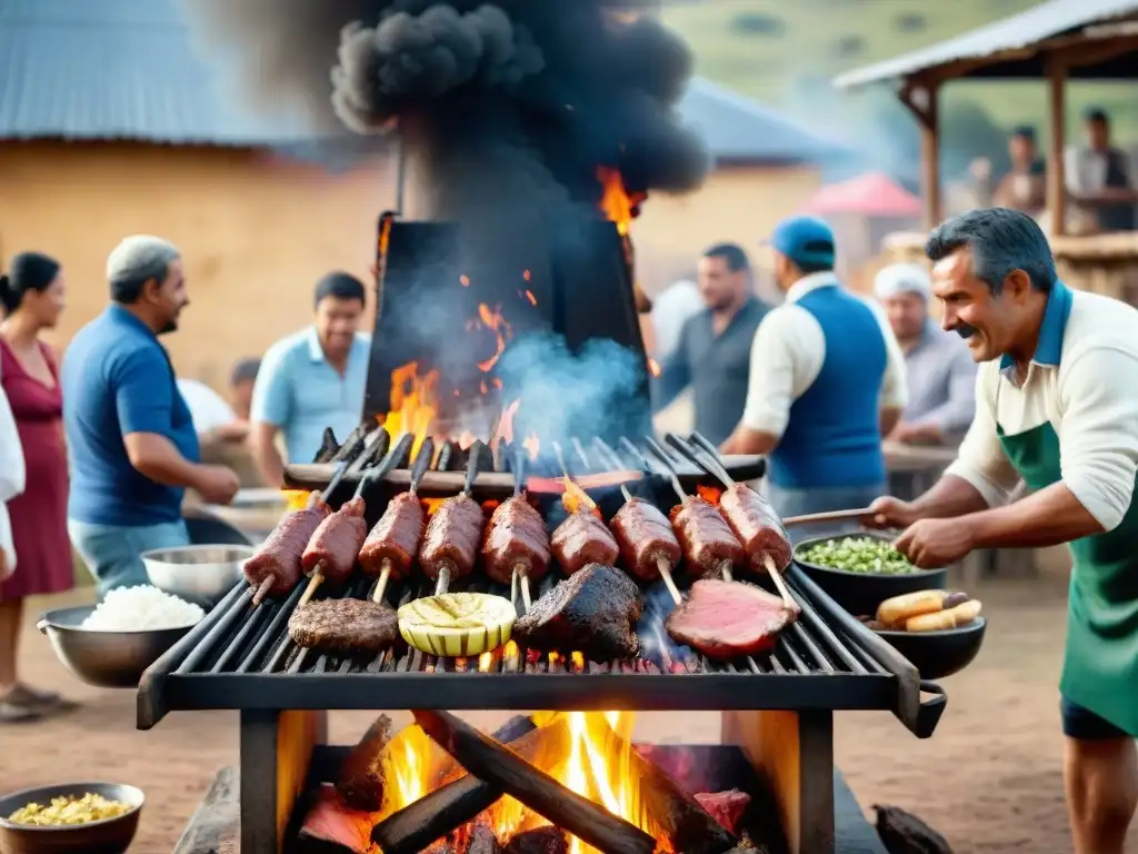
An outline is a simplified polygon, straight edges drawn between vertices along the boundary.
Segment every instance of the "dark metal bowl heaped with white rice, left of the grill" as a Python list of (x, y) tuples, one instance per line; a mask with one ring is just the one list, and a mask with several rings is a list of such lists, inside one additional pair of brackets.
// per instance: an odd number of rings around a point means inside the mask
[(142, 673), (181, 640), (205, 611), (157, 588), (118, 588), (98, 605), (40, 617), (59, 660), (97, 688), (138, 688)]

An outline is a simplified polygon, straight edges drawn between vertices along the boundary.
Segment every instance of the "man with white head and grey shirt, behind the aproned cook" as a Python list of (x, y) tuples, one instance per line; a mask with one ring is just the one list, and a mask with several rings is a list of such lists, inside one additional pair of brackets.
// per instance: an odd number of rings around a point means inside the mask
[(960, 438), (976, 409), (976, 366), (964, 340), (929, 317), (929, 272), (917, 264), (892, 264), (877, 273), (874, 290), (905, 353), (909, 392), (889, 438), (910, 444)]

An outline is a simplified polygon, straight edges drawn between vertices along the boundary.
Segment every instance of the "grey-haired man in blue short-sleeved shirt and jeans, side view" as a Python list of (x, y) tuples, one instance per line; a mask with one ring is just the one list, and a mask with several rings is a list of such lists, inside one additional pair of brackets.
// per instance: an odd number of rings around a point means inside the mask
[(193, 419), (158, 336), (189, 299), (178, 248), (137, 235), (107, 258), (110, 305), (72, 339), (60, 386), (71, 454), (67, 529), (99, 594), (146, 584), (140, 555), (189, 544), (185, 488), (228, 503), (237, 476), (203, 466)]

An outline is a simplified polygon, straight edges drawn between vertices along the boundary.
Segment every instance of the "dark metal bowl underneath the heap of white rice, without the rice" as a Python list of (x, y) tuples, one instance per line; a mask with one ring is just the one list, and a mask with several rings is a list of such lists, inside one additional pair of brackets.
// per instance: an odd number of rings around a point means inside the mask
[(48, 635), (56, 656), (76, 679), (97, 688), (138, 688), (142, 672), (192, 629), (80, 629), (93, 610), (93, 605), (49, 610), (40, 617), (36, 629)]

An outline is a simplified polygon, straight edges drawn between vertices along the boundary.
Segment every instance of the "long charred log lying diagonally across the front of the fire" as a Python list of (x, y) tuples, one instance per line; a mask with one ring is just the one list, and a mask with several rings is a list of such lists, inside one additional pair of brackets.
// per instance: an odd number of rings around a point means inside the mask
[(471, 774), (503, 791), (602, 854), (652, 854), (655, 839), (568, 789), (510, 748), (447, 712), (415, 709), (415, 722)]

